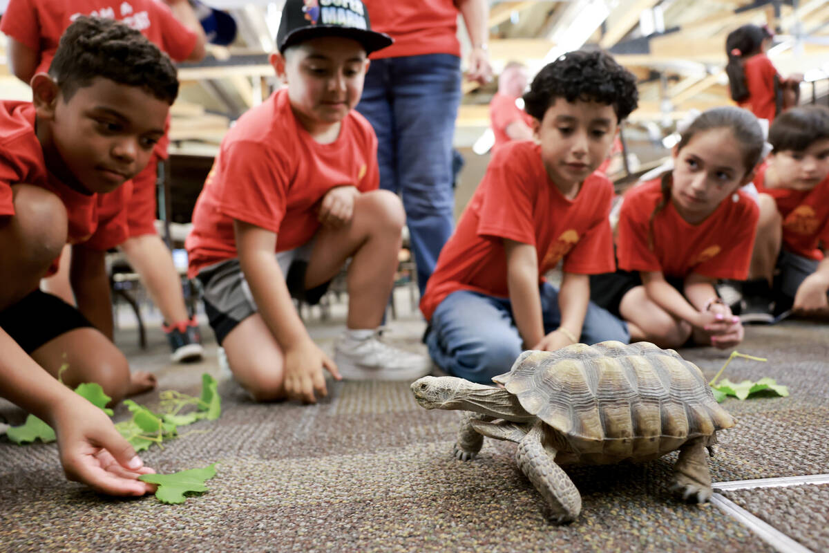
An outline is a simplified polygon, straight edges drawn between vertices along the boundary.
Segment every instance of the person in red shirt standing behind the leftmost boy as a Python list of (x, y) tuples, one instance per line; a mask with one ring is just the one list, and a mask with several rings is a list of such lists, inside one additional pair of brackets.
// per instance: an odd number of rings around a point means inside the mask
[[(205, 55), (205, 33), (187, 0), (11, 0), (0, 21), (0, 31), (9, 37), (14, 74), (29, 84), (33, 75), (48, 70), (61, 34), (79, 15), (123, 22), (147, 36), (173, 60), (199, 61)], [(192, 361), (203, 354), (198, 327), (187, 314), (181, 278), (154, 225), (158, 164), (167, 159), (168, 142), (165, 133), (147, 166), (133, 178), (133, 192), (128, 196), (128, 237), (120, 247), (168, 323), (164, 330), (173, 361)], [(105, 204), (109, 198), (102, 196), (101, 201)], [(120, 205), (116, 202), (112, 208), (102, 208), (119, 211)], [(76, 296), (85, 293), (85, 283), (75, 278), (70, 284), (70, 251), (67, 245), (61, 269), (42, 285), (47, 292), (75, 303)]]

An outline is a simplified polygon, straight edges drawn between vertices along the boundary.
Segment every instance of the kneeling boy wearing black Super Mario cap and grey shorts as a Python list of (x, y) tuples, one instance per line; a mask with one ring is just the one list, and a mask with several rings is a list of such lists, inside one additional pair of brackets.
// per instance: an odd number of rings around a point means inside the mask
[[(377, 139), (353, 111), (366, 56), (391, 39), (371, 32), (357, 0), (288, 0), (277, 44), (270, 62), (288, 87), (226, 134), (193, 212), (190, 274), (211, 327), (256, 400), (314, 402), (326, 395), (323, 368), (337, 379), (414, 380), (428, 358), (378, 332), (405, 215), (377, 189)], [(347, 329), (332, 361), (292, 297), (316, 303), (349, 258)]]

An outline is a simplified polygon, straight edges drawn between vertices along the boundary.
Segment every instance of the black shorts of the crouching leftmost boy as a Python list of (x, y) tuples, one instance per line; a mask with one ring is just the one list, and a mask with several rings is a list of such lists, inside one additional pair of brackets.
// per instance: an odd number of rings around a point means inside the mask
[(0, 328), (27, 353), (65, 332), (85, 327), (93, 325), (77, 308), (41, 290), (0, 311)]

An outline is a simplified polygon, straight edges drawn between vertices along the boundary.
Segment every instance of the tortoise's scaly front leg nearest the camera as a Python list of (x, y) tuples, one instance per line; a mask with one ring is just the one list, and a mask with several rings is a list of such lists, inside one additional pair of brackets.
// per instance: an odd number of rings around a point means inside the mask
[(518, 444), (516, 462), (550, 505), (553, 521), (557, 524), (574, 521), (581, 512), (581, 495), (567, 473), (555, 463), (555, 453), (541, 443), (542, 436), (539, 425), (531, 429)]

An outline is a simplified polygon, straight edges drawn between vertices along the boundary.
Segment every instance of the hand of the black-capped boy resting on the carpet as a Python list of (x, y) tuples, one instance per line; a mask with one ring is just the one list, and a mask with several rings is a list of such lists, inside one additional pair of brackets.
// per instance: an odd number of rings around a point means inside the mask
[(337, 365), (312, 340), (303, 340), (285, 350), (285, 395), (289, 400), (317, 403), (328, 395), (322, 369), (342, 380)]

